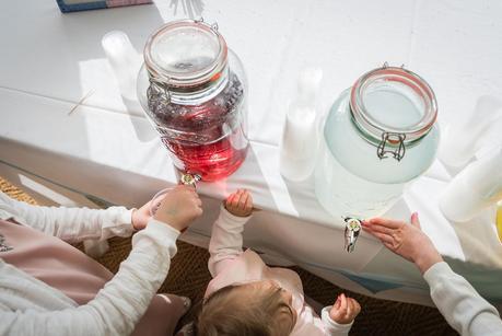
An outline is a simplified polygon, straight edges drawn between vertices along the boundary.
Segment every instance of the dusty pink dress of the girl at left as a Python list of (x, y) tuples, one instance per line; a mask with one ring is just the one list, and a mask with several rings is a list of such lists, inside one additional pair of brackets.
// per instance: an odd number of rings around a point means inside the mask
[[(114, 275), (78, 248), (13, 220), (0, 220), (0, 258), (63, 292), (79, 305), (86, 304)], [(171, 335), (180, 316), (180, 304), (154, 296), (132, 335)], [(167, 318), (166, 318), (167, 317)]]

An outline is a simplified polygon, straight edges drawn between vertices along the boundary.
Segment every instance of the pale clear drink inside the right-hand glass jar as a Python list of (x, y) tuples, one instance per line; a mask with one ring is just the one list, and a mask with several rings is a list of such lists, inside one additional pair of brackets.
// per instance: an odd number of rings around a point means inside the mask
[[(334, 103), (322, 129), (322, 148), (315, 171), (320, 205), (336, 217), (371, 218), (388, 210), (407, 183), (434, 161), (439, 129), (431, 126), (418, 139), (404, 141), (404, 157), (378, 158), (380, 138), (358, 126), (350, 109), (351, 90)], [(427, 102), (402, 83), (377, 82), (362, 93), (364, 117), (388, 131), (406, 135), (424, 120)], [(434, 102), (435, 103), (435, 102)], [(410, 136), (411, 137), (411, 136)], [(386, 143), (388, 150), (396, 150)]]

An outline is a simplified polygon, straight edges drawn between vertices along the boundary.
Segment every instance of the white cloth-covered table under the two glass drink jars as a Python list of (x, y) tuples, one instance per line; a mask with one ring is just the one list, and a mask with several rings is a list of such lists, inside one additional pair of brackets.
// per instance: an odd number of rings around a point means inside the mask
[[(258, 208), (245, 244), (267, 260), (297, 264), (339, 286), (392, 300), (431, 304), (413, 266), (363, 234), (343, 252), (343, 225), (317, 204), (312, 181), (293, 184), (278, 169), (287, 101), (299, 69), (323, 68), (320, 105), (363, 72), (405, 63), (435, 90), (439, 123), (468, 115), (481, 95), (502, 93), (500, 1), (156, 1), (153, 5), (61, 14), (54, 0), (0, 3), (0, 175), (43, 204), (128, 207), (176, 183), (165, 149), (137, 102), (124, 101), (101, 47), (126, 32), (137, 50), (163, 22), (203, 15), (218, 22), (249, 79), (252, 149), (230, 178), (200, 184), (205, 216), (183, 240), (207, 246), (220, 200), (237, 187)], [(89, 93), (91, 93), (89, 95)], [(77, 102), (87, 96), (74, 109)], [(482, 117), (482, 116), (480, 116)], [(485, 150), (493, 149), (502, 125)], [(387, 213), (419, 211), (423, 230), (451, 265), (502, 302), (502, 246), (493, 213), (450, 223), (437, 197), (451, 179), (439, 161)], [(84, 197), (87, 196), (87, 197)]]

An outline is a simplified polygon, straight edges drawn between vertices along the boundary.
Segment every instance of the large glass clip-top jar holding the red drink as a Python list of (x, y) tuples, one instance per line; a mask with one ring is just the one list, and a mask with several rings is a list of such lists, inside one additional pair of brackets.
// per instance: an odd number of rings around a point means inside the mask
[(215, 25), (182, 20), (144, 47), (138, 97), (175, 166), (202, 181), (232, 174), (247, 149), (246, 77)]

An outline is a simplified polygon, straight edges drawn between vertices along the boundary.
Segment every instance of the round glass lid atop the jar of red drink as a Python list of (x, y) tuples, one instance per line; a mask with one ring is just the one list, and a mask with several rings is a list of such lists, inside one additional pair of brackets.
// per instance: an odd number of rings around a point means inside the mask
[(143, 54), (151, 80), (183, 89), (218, 80), (226, 67), (227, 47), (215, 25), (180, 20), (155, 31)]

